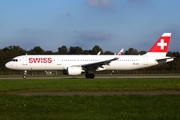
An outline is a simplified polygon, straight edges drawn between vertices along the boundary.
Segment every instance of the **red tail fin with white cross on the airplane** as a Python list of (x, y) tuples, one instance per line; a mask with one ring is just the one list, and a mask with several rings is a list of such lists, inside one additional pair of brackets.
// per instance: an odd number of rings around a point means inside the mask
[(167, 52), (171, 33), (164, 33), (152, 46), (149, 52)]

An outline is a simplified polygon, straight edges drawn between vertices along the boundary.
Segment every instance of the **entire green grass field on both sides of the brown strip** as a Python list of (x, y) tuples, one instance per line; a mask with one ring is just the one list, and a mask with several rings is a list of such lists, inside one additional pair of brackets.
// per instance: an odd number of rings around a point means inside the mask
[(0, 80), (0, 120), (180, 119), (180, 95), (21, 96), (21, 91), (171, 91), (180, 79)]

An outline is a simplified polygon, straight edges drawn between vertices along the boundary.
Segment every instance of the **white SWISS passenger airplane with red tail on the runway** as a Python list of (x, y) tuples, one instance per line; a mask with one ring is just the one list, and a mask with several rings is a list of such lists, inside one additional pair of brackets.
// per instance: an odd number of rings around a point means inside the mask
[(164, 33), (144, 55), (21, 55), (5, 64), (6, 68), (24, 70), (62, 70), (64, 75), (80, 75), (94, 78), (95, 71), (135, 70), (161, 65), (174, 60), (166, 56), (171, 33)]

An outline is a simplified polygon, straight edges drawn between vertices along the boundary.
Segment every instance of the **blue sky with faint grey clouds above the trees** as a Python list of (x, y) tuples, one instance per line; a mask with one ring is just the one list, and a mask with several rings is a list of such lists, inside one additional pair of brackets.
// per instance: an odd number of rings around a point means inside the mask
[(169, 51), (180, 52), (179, 11), (180, 0), (0, 0), (0, 49), (148, 51), (171, 32)]

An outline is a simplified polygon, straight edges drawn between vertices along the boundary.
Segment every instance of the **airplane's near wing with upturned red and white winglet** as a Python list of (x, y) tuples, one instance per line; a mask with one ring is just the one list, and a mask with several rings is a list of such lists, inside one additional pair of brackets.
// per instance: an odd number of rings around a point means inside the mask
[(81, 67), (85, 70), (105, 70), (106, 68), (103, 67), (103, 65), (109, 65), (111, 61), (115, 61), (119, 59), (119, 56), (122, 54), (124, 49), (122, 49), (114, 58), (109, 59), (109, 60), (104, 60), (104, 61), (99, 61), (99, 62), (94, 62), (94, 63), (88, 63), (88, 64), (82, 64)]

